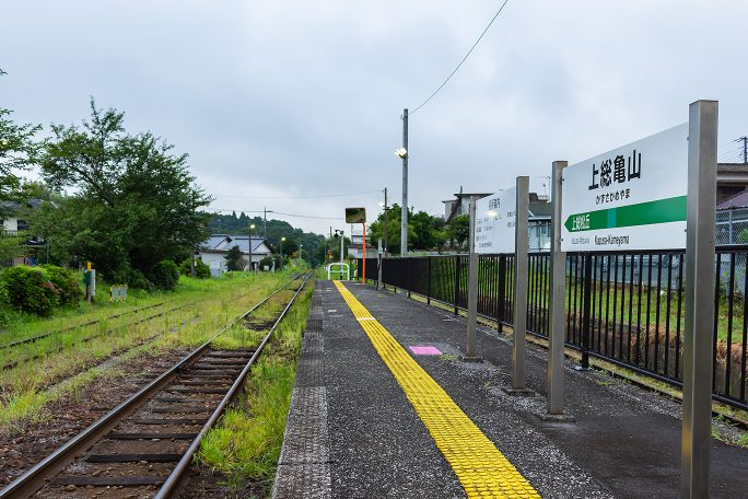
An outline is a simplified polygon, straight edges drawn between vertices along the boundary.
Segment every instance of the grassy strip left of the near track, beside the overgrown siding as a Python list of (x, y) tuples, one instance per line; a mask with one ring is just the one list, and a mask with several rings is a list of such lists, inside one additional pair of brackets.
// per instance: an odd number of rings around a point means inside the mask
[[(56, 341), (61, 348), (0, 372), (0, 431), (19, 431), (30, 422), (43, 421), (51, 416), (45, 411), (47, 404), (74, 395), (100, 376), (113, 375), (116, 368), (100, 367), (106, 359), (159, 356), (202, 344), (289, 278), (288, 272), (235, 274), (209, 280), (182, 278), (179, 288), (170, 297), (171, 306), (185, 303), (189, 306), (110, 330), (89, 341), (82, 341), (86, 330), (75, 329), (17, 347), (39, 349), (45, 348), (45, 341)], [(110, 326), (100, 327), (109, 330)]]

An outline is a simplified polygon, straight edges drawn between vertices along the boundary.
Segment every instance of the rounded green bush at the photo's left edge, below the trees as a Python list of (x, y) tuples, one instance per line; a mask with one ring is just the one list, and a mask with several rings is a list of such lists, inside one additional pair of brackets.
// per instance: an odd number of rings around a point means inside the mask
[(3, 270), (2, 281), (8, 301), (13, 307), (36, 315), (49, 315), (60, 302), (57, 287), (40, 267), (10, 267)]

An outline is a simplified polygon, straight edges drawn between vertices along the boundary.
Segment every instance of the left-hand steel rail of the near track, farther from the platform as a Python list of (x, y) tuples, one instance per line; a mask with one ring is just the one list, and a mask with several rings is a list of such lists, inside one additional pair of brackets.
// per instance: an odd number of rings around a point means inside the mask
[[(211, 336), (206, 343), (185, 356), (176, 364), (163, 372), (159, 378), (151, 381), (148, 385), (140, 388), (135, 395), (127, 401), (120, 403), (114, 409), (102, 416), (100, 419), (91, 423), (86, 429), (78, 433), (72, 439), (60, 445), (51, 454), (37, 464), (28, 468), (23, 475), (11, 481), (2, 490), (0, 490), (0, 499), (4, 498), (20, 498), (31, 497), (44, 485), (47, 484), (48, 478), (60, 473), (74, 457), (89, 449), (93, 443), (100, 440), (104, 434), (112, 430), (124, 417), (137, 410), (143, 403), (145, 403), (153, 394), (157, 393), (164, 385), (174, 379), (179, 371), (197, 361), (200, 356), (210, 347), (211, 343), (219, 336), (231, 329), (239, 321), (255, 310), (267, 303), (272, 297), (285, 289), (291, 282), (297, 280), (297, 276), (284, 282), (281, 287), (265, 297), (261, 301), (253, 305), (249, 310), (242, 313), (238, 317), (231, 322), (223, 329)], [(307, 278), (308, 279), (308, 278)], [(301, 288), (300, 288), (301, 289)]]

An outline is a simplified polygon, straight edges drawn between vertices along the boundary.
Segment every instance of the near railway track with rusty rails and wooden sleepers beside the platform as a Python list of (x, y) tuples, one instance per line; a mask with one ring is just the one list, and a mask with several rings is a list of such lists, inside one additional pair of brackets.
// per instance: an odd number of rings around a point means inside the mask
[[(300, 276), (267, 295), (137, 394), (0, 490), (2, 498), (172, 497), (202, 437), (238, 395), (253, 364), (304, 289)], [(254, 350), (212, 343), (272, 297), (292, 288), (282, 312)]]

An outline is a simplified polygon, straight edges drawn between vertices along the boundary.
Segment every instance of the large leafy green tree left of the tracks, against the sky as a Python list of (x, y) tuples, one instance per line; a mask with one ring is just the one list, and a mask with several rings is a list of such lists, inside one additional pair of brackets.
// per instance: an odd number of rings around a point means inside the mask
[(59, 209), (39, 210), (36, 233), (51, 237), (71, 262), (91, 260), (106, 279), (125, 281), (137, 270), (155, 276), (208, 235), (210, 198), (192, 185), (186, 154), (151, 132), (130, 135), (124, 113), (91, 100), (83, 127), (52, 125), (40, 158), (52, 189), (74, 187)]

